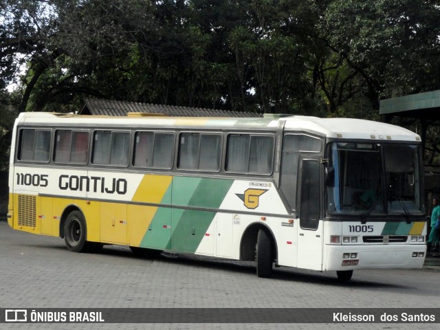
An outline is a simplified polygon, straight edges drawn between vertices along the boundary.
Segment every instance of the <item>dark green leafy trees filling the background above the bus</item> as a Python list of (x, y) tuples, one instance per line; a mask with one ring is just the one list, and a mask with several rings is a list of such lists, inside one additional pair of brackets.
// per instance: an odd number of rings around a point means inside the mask
[(94, 96), (380, 120), (440, 89), (439, 21), (438, 0), (5, 0), (0, 91), (12, 117)]

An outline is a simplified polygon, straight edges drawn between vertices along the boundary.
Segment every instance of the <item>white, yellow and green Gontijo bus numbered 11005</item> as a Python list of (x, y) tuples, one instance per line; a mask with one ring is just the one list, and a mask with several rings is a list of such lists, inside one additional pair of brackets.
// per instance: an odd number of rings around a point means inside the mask
[(423, 266), (419, 135), (391, 124), (21, 113), (8, 223), (73, 252), (125, 245), (336, 271)]

